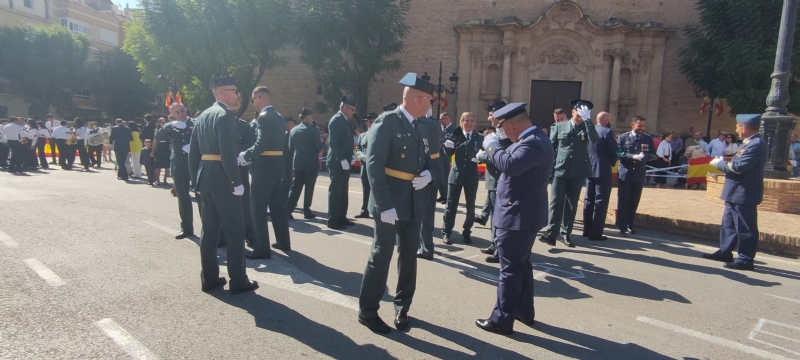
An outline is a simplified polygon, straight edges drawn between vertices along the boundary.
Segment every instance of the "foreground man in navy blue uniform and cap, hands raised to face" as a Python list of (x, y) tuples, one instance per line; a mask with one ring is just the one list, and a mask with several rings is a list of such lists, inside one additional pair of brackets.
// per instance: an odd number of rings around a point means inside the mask
[(494, 112), (498, 141), (486, 146), (502, 175), (497, 183), (497, 205), (492, 223), (497, 228), (500, 276), (497, 303), (479, 328), (514, 332), (514, 320), (533, 326), (533, 267), (531, 248), (536, 233), (547, 224), (547, 184), (553, 167), (553, 145), (533, 126), (525, 103), (511, 103)]

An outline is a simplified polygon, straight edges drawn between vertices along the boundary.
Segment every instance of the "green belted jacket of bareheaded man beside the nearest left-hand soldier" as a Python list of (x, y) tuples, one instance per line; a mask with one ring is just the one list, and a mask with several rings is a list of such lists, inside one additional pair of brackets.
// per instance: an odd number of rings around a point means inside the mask
[[(283, 160), (286, 119), (272, 106), (267, 107), (258, 115), (255, 132), (256, 142), (244, 152), (245, 160), (253, 162), (253, 177), (272, 174), (283, 179), (286, 166)], [(264, 151), (277, 151), (280, 155), (262, 156)]]

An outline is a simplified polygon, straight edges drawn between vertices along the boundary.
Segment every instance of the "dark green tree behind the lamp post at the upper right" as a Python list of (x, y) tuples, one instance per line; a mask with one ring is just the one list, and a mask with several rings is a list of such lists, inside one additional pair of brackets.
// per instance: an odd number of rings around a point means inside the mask
[[(726, 99), (733, 114), (764, 112), (782, 5), (783, 0), (699, 0), (700, 23), (684, 29), (689, 42), (679, 52), (681, 73), (696, 88)], [(795, 39), (798, 34), (800, 27)], [(795, 41), (793, 74), (800, 74), (798, 50)], [(798, 85), (793, 78), (789, 92), (797, 94)], [(792, 97), (788, 108), (800, 111), (800, 98)]]

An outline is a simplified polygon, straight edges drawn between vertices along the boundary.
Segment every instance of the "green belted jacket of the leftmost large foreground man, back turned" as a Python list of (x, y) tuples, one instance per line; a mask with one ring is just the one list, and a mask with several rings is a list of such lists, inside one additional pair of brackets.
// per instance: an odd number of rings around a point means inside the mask
[[(236, 162), (239, 129), (236, 114), (225, 104), (216, 102), (195, 121), (189, 150), (189, 172), (195, 190), (205, 193), (233, 193), (242, 185)], [(220, 155), (221, 161), (201, 160), (203, 154)]]

